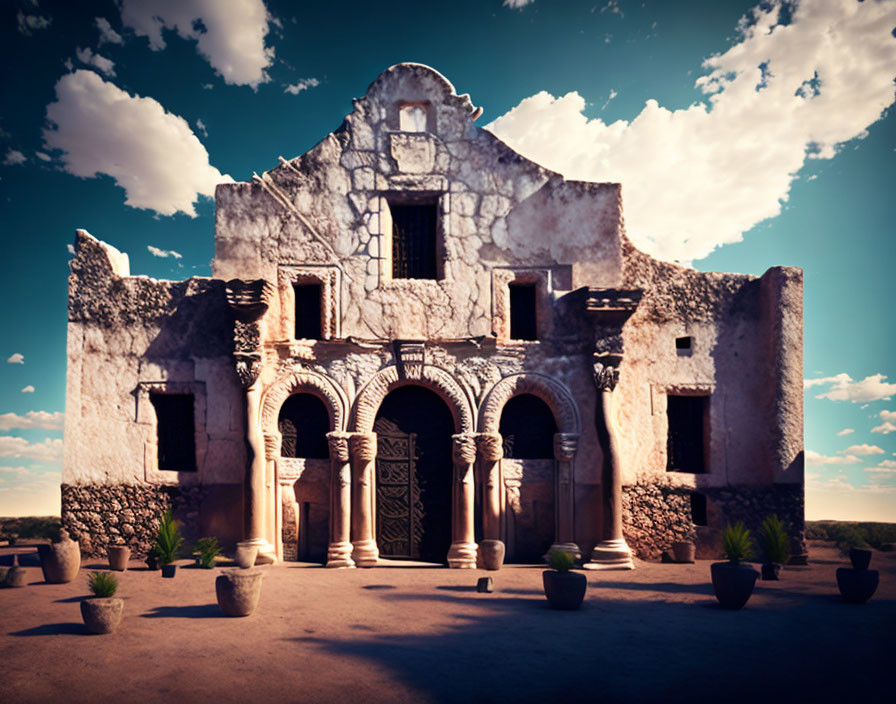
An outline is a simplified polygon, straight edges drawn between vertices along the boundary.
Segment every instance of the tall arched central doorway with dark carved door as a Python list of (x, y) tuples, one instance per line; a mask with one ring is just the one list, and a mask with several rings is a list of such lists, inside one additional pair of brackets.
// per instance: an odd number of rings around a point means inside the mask
[(400, 386), (383, 399), (373, 430), (380, 555), (445, 562), (451, 546), (451, 411), (429, 389)]

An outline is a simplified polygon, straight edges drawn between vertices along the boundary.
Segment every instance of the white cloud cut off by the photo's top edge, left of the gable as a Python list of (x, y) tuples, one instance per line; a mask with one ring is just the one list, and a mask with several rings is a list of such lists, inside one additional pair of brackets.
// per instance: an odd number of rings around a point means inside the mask
[(165, 48), (163, 29), (195, 39), (226, 83), (257, 88), (270, 80), (265, 69), (274, 49), (264, 45), (270, 17), (263, 0), (123, 0), (121, 21), (147, 37), (153, 51)]

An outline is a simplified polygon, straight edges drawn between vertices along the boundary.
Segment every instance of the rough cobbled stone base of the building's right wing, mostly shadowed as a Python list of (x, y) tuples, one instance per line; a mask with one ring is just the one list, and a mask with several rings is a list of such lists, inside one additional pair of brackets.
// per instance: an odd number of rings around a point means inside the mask
[[(755, 538), (762, 521), (771, 514), (776, 514), (784, 523), (791, 538), (791, 553), (806, 553), (802, 485), (697, 489), (696, 493), (706, 497), (706, 526), (694, 526), (692, 522), (691, 493), (690, 489), (661, 484), (623, 487), (623, 533), (639, 558), (658, 559), (676, 540), (694, 540), (698, 557), (718, 558), (721, 556), (722, 531), (728, 522), (743, 521)], [(759, 558), (757, 554), (756, 559)]]

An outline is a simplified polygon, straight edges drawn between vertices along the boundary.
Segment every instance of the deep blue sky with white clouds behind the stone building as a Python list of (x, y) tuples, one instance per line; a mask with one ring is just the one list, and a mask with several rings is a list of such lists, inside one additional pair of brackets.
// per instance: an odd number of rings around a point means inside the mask
[(419, 61), (628, 234), (701, 270), (805, 270), (807, 515), (896, 521), (896, 0), (0, 3), (0, 515), (55, 513), (76, 228), (209, 275), (214, 184)]

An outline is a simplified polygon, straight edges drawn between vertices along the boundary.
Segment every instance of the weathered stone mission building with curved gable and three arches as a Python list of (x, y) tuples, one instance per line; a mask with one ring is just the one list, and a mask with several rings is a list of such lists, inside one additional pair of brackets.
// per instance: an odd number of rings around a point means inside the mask
[[(213, 277), (79, 232), (63, 519), (272, 559), (631, 565), (775, 512), (802, 551), (802, 273), (700, 273), (401, 64), (306, 154), (216, 193)], [(698, 553), (699, 554), (699, 553)]]

